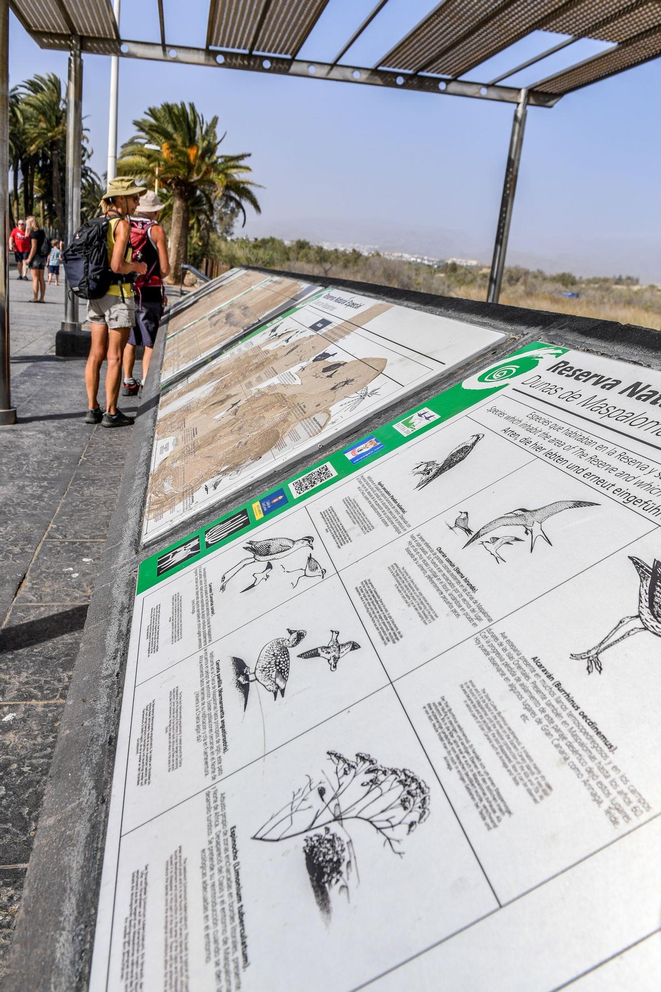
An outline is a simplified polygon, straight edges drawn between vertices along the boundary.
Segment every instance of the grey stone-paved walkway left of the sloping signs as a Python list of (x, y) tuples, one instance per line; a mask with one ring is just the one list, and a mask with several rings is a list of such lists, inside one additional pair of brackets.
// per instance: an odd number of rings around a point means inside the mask
[[(84, 361), (55, 356), (62, 287), (32, 305), (31, 285), (11, 277), (19, 423), (0, 428), (0, 976), (131, 440), (131, 428), (82, 422)], [(135, 413), (135, 401), (120, 404)]]

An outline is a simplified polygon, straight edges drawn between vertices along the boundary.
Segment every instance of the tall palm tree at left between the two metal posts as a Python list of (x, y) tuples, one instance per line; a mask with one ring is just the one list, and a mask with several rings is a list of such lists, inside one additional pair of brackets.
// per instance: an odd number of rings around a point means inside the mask
[[(55, 72), (36, 75), (18, 87), (25, 124), (29, 155), (41, 159), (43, 169), (50, 172), (55, 226), (63, 227), (64, 201), (60, 174), (60, 158), (66, 142), (66, 106), (62, 99), (61, 81)], [(46, 177), (43, 177), (46, 179)], [(25, 182), (25, 174), (24, 174)]]

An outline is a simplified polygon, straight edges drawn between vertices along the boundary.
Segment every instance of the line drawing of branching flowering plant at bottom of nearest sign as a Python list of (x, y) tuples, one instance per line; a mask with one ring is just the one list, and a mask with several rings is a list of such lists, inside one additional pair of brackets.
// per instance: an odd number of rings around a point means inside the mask
[(403, 768), (387, 768), (369, 754), (355, 759), (328, 751), (330, 768), (307, 781), (289, 802), (254, 834), (254, 840), (279, 842), (303, 838), (305, 866), (314, 896), (326, 919), (331, 893), (350, 895), (360, 881), (350, 830), (358, 822), (374, 830), (397, 856), (403, 842), (429, 815), (429, 789)]

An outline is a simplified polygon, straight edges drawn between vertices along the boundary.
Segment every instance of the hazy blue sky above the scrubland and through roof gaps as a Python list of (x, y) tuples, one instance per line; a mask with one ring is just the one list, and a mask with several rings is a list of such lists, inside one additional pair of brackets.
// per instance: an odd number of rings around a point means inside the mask
[[(375, 0), (331, 0), (301, 52), (332, 60)], [(343, 62), (373, 64), (431, 0), (389, 0)], [(157, 41), (156, 0), (124, 0), (128, 39)], [(203, 47), (208, 3), (165, 0), (170, 45)], [(66, 56), (43, 51), (12, 16), (10, 82), (66, 77)], [(489, 81), (561, 36), (537, 33), (469, 78)], [(531, 83), (604, 46), (581, 42), (505, 80)], [(110, 60), (84, 57), (83, 113), (103, 173)], [(547, 271), (627, 273), (661, 283), (661, 60), (528, 112), (508, 261)], [(174, 62), (120, 60), (119, 141), (164, 100), (192, 100), (227, 131), (226, 152), (252, 152), (260, 217), (250, 236), (491, 258), (512, 108), (374, 86), (266, 76)]]

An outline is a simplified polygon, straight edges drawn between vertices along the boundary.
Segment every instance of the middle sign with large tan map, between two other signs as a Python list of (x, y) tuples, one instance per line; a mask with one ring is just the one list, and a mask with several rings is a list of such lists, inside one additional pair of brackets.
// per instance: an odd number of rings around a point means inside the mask
[(346, 433), (502, 338), (463, 321), (319, 291), (162, 396), (143, 540), (275, 466), (285, 474), (287, 462), (319, 441)]

